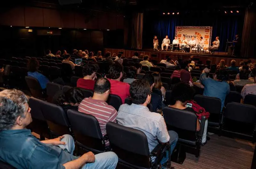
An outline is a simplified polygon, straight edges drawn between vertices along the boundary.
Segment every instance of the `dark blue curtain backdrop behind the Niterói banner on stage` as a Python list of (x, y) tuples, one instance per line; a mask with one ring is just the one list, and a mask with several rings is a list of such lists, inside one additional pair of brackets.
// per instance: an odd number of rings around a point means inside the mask
[[(223, 12), (224, 13), (224, 12)], [(156, 35), (160, 43), (165, 35), (174, 39), (176, 26), (212, 26), (212, 41), (220, 37), (220, 50), (225, 51), (227, 39), (235, 39), (236, 33), (242, 34), (244, 12), (233, 14), (220, 13), (185, 13), (177, 15), (144, 15), (143, 48), (153, 48), (153, 37)], [(161, 46), (161, 44), (159, 44)]]

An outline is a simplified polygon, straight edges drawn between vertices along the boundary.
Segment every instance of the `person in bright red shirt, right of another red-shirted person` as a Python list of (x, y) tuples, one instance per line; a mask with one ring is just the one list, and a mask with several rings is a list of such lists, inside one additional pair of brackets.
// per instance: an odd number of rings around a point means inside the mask
[(109, 67), (109, 81), (111, 84), (110, 94), (118, 95), (121, 97), (122, 102), (130, 96), (129, 88), (130, 85), (128, 83), (121, 82), (121, 78), (123, 77), (123, 66), (119, 63), (115, 63), (110, 65)]

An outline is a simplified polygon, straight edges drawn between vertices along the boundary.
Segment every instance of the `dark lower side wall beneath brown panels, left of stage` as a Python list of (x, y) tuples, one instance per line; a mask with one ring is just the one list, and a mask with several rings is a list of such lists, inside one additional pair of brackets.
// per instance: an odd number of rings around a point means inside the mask
[(0, 31), (2, 32), (1, 58), (44, 56), (47, 49), (51, 49), (53, 54), (58, 50), (62, 52), (64, 49), (68, 53), (71, 53), (73, 49), (83, 51), (88, 49), (97, 52), (103, 51), (103, 46), (116, 48), (124, 45), (123, 30), (57, 29), (52, 30), (53, 35), (42, 35), (42, 32), (47, 32), (44, 28), (33, 28), (33, 32), (28, 32), (28, 29), (23, 28), (0, 27)]

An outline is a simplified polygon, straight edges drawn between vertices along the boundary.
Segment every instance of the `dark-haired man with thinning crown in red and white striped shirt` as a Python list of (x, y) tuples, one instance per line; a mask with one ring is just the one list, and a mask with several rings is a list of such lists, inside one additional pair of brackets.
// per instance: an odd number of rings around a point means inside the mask
[[(98, 120), (102, 136), (107, 134), (106, 124), (108, 122), (116, 123), (117, 111), (106, 103), (109, 92), (110, 82), (108, 79), (99, 78), (95, 81), (93, 96), (84, 98), (78, 106), (78, 111), (92, 115)], [(106, 140), (105, 144), (108, 146), (109, 141)]]

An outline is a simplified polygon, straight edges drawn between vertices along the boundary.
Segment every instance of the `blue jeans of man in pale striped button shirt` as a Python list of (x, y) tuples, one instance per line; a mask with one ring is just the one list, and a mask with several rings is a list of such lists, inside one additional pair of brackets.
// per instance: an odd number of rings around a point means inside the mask
[(169, 143), (170, 143), (171, 147), (170, 147), (170, 150), (165, 151), (165, 156), (160, 161), (161, 164), (164, 164), (169, 160), (169, 151), (172, 155), (172, 151), (174, 150), (174, 148), (176, 146), (176, 143), (178, 141), (178, 138), (179, 138), (178, 134), (175, 131), (170, 130), (170, 131), (168, 131), (168, 133), (169, 133), (169, 136), (170, 136)]

